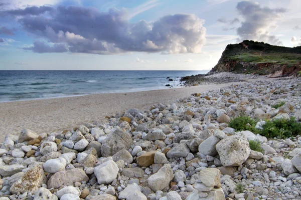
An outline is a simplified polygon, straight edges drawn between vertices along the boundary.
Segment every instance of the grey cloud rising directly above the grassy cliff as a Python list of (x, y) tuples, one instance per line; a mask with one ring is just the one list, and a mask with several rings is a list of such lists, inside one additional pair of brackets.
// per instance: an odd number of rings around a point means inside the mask
[(255, 1), (240, 1), (236, 9), (244, 18), (240, 27), (237, 28), (239, 40), (252, 39), (264, 41), (271, 44), (282, 44), (275, 36), (270, 34), (270, 30), (277, 27), (277, 22), (281, 19), (282, 14), (286, 12), (284, 8), (262, 7)]

